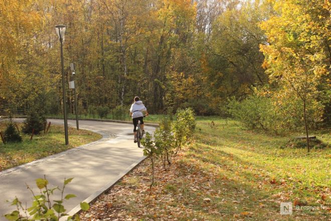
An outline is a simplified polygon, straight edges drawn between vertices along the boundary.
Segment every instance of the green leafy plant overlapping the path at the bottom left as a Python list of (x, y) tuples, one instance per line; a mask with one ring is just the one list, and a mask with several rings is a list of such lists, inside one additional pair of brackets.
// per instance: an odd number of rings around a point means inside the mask
[[(58, 186), (49, 189), (48, 180), (46, 176), (44, 179), (39, 178), (36, 179), (36, 185), (38, 189), (40, 189), (40, 194), (37, 195), (33, 192), (33, 190), (27, 186), (27, 188), (32, 192), (33, 201), (31, 207), (24, 207), (22, 202), (15, 197), (12, 201), (12, 205), (17, 207), (17, 210), (12, 211), (11, 213), (5, 214), (5, 217), (8, 220), (16, 221), (16, 220), (49, 220), (49, 221), (57, 221), (62, 216), (66, 216), (68, 214), (65, 213), (66, 209), (63, 206), (65, 200), (76, 197), (74, 194), (67, 194), (64, 196), (64, 189), (67, 184), (72, 181), (73, 178), (64, 179), (63, 187), (59, 188)], [(61, 192), (60, 200), (51, 200), (51, 196), (54, 192)], [(52, 203), (54, 201), (54, 203)], [(89, 205), (86, 202), (81, 203), (81, 208), (84, 211), (89, 209)], [(25, 215), (21, 214), (20, 211), (23, 211)], [(68, 216), (67, 220), (79, 220), (79, 215)]]

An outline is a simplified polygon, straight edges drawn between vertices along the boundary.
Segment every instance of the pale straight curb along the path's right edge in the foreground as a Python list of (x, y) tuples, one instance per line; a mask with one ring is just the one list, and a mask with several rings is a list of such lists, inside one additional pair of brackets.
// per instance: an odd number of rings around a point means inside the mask
[[(131, 172), (134, 168), (136, 168), (146, 158), (147, 158), (146, 156), (143, 156), (143, 157), (139, 158), (138, 160), (136, 160), (135, 162), (133, 162), (124, 171), (120, 172), (118, 174), (118, 176), (113, 178), (109, 183), (107, 183), (106, 185), (101, 187), (98, 191), (92, 193), (89, 197), (87, 197), (85, 200), (83, 200), (83, 202), (87, 202), (88, 204), (95, 202), (101, 194), (103, 194), (103, 193), (107, 192), (109, 189), (111, 189), (114, 185), (116, 185), (116, 183), (118, 183), (124, 176), (126, 176), (129, 172)], [(75, 214), (78, 214), (81, 211), (82, 211), (82, 209), (80, 207), (80, 204), (78, 204), (73, 209), (71, 209), (67, 214), (70, 216), (74, 216)], [(64, 221), (64, 220), (67, 220), (66, 216), (60, 218), (60, 221)]]

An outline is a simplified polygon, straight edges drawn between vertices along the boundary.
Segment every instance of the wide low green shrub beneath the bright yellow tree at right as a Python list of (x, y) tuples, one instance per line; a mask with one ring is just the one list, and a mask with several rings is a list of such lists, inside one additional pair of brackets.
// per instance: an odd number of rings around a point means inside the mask
[[(308, 128), (315, 128), (322, 113), (318, 102), (306, 105)], [(286, 100), (251, 95), (242, 101), (229, 100), (227, 111), (249, 130), (264, 130), (274, 133), (298, 131), (304, 127), (302, 122), (302, 103), (295, 97)]]

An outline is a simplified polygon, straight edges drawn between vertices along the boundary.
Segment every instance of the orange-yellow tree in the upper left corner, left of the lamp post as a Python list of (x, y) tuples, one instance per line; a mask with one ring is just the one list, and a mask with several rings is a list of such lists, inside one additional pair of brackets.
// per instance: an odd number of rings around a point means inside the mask
[[(0, 1), (0, 97), (42, 109), (53, 83), (47, 68), (44, 11), (33, 1)], [(38, 82), (38, 84), (36, 84)]]

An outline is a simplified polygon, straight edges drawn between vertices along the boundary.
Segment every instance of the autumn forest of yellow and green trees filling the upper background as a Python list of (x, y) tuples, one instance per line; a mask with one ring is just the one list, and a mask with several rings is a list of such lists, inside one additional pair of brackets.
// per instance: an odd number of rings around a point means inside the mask
[[(250, 129), (331, 125), (328, 0), (0, 0), (0, 105), (62, 111), (75, 64), (78, 109), (193, 107)], [(73, 94), (67, 89), (73, 113)]]

